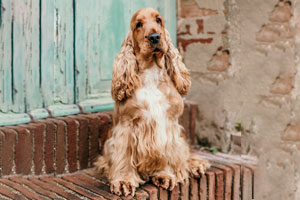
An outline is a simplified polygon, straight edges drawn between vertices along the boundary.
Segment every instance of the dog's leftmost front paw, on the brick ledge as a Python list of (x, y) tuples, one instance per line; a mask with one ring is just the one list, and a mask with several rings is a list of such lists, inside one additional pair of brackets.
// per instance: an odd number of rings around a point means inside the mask
[(110, 183), (110, 191), (119, 196), (134, 196), (136, 187), (127, 181), (115, 181)]

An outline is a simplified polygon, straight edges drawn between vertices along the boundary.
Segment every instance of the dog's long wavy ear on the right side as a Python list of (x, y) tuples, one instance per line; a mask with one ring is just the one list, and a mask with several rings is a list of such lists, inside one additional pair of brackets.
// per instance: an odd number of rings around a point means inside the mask
[(191, 78), (188, 69), (185, 67), (178, 49), (173, 45), (169, 32), (165, 29), (167, 71), (176, 89), (182, 95), (186, 94), (191, 87)]

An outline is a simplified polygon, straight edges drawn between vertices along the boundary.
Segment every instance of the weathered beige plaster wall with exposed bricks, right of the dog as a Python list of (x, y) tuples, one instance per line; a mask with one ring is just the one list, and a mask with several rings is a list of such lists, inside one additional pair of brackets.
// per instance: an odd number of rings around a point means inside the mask
[(178, 0), (196, 138), (258, 156), (259, 199), (300, 199), (299, 33), (299, 0)]

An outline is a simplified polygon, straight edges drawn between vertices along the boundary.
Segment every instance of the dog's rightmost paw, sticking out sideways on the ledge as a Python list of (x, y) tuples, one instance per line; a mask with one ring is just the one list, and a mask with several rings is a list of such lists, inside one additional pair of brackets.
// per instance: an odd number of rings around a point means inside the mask
[(204, 174), (205, 171), (210, 167), (210, 164), (207, 160), (200, 158), (190, 158), (188, 162), (192, 176), (197, 178), (199, 178), (201, 174)]

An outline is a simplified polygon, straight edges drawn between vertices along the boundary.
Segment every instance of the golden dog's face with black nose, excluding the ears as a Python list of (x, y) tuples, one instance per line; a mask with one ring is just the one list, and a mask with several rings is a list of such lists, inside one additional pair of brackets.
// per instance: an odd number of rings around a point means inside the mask
[(142, 8), (132, 16), (130, 29), (136, 54), (149, 57), (167, 52), (164, 23), (153, 8)]

